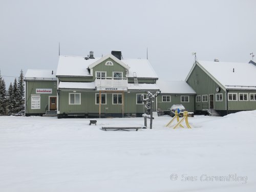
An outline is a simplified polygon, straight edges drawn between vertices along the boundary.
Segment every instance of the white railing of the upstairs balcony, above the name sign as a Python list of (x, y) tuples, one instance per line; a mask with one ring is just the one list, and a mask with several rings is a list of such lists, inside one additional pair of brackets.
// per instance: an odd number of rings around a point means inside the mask
[(127, 88), (127, 78), (101, 78), (95, 79), (96, 88)]

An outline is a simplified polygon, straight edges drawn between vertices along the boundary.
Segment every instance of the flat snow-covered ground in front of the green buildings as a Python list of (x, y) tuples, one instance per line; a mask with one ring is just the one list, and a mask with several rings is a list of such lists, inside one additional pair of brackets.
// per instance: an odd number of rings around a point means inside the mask
[(0, 191), (256, 191), (256, 111), (169, 120), (1, 116)]

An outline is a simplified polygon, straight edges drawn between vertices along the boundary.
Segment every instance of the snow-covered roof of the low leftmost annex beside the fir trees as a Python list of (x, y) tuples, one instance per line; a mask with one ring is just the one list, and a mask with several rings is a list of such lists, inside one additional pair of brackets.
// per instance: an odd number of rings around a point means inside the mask
[(56, 70), (28, 69), (25, 80), (57, 80)]

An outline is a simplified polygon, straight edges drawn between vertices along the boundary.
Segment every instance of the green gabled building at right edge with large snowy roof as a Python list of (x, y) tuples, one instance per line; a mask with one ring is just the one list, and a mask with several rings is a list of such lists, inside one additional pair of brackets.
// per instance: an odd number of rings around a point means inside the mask
[(185, 80), (197, 93), (195, 111), (256, 110), (255, 74), (253, 63), (196, 61)]

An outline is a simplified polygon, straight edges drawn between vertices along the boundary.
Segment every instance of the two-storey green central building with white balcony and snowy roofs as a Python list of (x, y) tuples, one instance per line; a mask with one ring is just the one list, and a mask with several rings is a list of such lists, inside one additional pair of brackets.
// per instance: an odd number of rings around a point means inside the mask
[[(158, 76), (147, 59), (122, 59), (121, 52), (94, 58), (59, 56), (58, 118), (141, 116), (140, 95), (158, 92)], [(156, 109), (154, 102), (153, 109)]]

